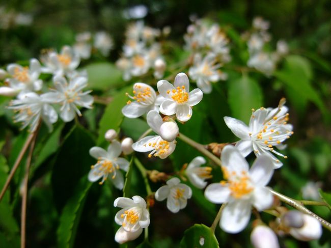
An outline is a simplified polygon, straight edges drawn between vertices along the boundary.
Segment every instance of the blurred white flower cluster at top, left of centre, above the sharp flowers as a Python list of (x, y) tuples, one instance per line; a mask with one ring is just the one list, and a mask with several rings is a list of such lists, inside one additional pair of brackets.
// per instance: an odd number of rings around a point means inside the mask
[(143, 21), (129, 25), (123, 55), (116, 63), (123, 71), (124, 80), (130, 80), (132, 76), (141, 76), (150, 68), (154, 69), (155, 78), (163, 76), (166, 62), (161, 56), (161, 45), (156, 42), (160, 34), (159, 30), (145, 26)]

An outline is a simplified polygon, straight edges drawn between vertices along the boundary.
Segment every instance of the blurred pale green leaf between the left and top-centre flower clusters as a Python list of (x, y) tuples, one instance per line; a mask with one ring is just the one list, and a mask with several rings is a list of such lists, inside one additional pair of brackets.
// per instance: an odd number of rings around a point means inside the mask
[(89, 75), (89, 89), (104, 91), (124, 84), (122, 72), (111, 63), (94, 63), (84, 68)]

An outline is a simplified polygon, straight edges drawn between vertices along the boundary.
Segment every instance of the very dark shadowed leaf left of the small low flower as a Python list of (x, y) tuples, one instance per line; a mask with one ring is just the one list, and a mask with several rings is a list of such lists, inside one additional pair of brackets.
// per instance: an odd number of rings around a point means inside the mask
[(58, 210), (72, 197), (80, 179), (90, 171), (95, 159), (89, 150), (94, 146), (90, 133), (81, 126), (74, 126), (67, 135), (54, 162), (51, 184)]

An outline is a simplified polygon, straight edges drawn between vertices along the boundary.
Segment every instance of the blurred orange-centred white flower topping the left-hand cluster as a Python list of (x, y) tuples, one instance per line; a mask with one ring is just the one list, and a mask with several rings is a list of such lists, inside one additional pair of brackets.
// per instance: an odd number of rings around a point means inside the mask
[(61, 53), (49, 51), (41, 57), (46, 67), (42, 72), (52, 73), (54, 76), (64, 76), (72, 73), (80, 63), (79, 55), (70, 46), (64, 46)]

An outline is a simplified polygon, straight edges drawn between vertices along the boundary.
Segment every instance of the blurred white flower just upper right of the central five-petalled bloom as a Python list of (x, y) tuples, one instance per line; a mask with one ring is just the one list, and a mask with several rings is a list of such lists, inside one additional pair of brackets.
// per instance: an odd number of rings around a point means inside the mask
[(212, 89), (211, 82), (227, 79), (227, 75), (218, 70), (220, 64), (216, 64), (215, 55), (207, 54), (202, 59), (201, 54), (197, 53), (194, 58), (194, 65), (189, 68), (188, 75), (197, 81), (197, 86), (204, 94), (209, 94)]

